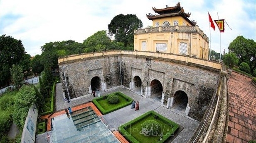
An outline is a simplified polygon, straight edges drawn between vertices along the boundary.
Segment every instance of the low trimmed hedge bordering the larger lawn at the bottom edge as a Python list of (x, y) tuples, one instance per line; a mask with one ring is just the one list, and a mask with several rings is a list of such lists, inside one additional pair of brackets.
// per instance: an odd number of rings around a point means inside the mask
[(123, 124), (119, 127), (119, 132), (125, 136), (125, 138), (130, 141), (131, 143), (139, 143), (136, 138), (134, 138), (126, 129), (128, 129), (130, 126), (140, 122), (141, 120), (145, 119), (148, 116), (153, 116), (156, 120), (160, 120), (164, 124), (170, 124), (172, 126), (172, 130), (168, 131), (165, 135), (162, 135), (162, 140), (157, 141), (157, 143), (163, 143), (165, 142), (178, 128), (179, 125), (175, 122), (170, 121), (169, 119), (163, 117), (162, 115), (154, 112), (154, 111), (149, 111), (146, 112), (145, 114), (141, 115), (140, 117), (131, 120), (130, 122)]

